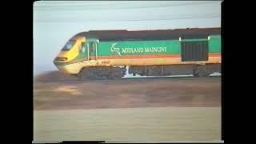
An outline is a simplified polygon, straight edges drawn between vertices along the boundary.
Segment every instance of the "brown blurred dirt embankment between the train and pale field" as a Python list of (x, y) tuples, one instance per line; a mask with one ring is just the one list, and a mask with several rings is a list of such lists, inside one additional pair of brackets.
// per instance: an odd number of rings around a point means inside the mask
[(34, 82), (34, 110), (221, 106), (221, 78)]

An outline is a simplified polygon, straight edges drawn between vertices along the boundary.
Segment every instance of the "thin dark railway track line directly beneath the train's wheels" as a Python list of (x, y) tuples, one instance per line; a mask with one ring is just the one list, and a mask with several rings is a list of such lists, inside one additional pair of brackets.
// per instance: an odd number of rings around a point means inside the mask
[[(155, 76), (155, 77), (134, 77), (134, 78), (118, 78), (118, 79), (94, 79), (85, 81), (55, 81), (59, 83), (82, 83), (82, 82), (118, 82), (118, 81), (147, 81), (153, 79), (170, 79), (170, 80), (204, 80), (204, 79), (214, 79), (221, 78), (221, 75), (213, 75), (206, 78), (195, 78), (193, 76)], [(47, 82), (48, 83), (48, 82)], [(51, 83), (51, 82), (49, 82)]]

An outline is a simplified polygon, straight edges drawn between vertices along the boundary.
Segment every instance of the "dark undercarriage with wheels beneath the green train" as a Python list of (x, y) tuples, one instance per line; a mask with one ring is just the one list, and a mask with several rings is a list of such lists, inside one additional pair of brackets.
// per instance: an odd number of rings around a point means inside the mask
[(172, 66), (97, 66), (85, 67), (77, 75), (79, 80), (118, 79), (128, 74), (141, 76), (190, 75), (208, 77), (213, 73), (221, 73), (221, 64), (206, 65), (172, 65)]

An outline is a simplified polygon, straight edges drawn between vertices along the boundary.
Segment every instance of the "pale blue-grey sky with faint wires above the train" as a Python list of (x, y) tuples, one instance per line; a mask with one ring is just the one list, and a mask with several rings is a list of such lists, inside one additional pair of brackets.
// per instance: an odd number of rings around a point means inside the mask
[(165, 30), (221, 26), (221, 1), (34, 2), (34, 74), (57, 70), (66, 41), (87, 30)]

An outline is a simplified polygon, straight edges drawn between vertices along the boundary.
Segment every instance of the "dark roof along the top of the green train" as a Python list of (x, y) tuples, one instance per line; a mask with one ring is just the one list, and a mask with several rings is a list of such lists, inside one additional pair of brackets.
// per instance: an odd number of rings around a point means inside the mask
[(124, 40), (166, 40), (166, 39), (193, 39), (207, 38), (209, 35), (221, 34), (220, 27), (214, 28), (187, 28), (174, 30), (90, 30), (74, 35), (76, 37), (98, 38), (99, 41)]

